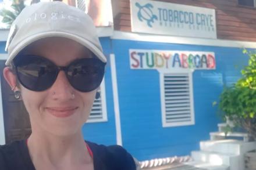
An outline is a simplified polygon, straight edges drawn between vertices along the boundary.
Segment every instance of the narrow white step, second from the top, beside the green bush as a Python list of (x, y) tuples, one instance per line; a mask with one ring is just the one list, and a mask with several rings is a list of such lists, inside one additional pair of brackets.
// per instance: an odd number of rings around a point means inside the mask
[(243, 132), (228, 132), (227, 134), (225, 132), (210, 132), (210, 137), (211, 140), (225, 139), (226, 137), (242, 138), (244, 142), (249, 140), (248, 133)]

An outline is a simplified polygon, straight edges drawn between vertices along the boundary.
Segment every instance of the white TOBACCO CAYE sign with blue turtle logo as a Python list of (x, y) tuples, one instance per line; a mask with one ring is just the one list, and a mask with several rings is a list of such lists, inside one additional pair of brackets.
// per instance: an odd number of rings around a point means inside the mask
[(131, 31), (216, 38), (215, 10), (176, 3), (130, 0)]

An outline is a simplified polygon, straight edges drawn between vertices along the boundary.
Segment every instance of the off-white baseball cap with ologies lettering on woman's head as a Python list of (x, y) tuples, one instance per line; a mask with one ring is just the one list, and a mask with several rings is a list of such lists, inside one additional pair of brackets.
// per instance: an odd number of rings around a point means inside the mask
[(6, 66), (26, 46), (38, 39), (65, 37), (79, 42), (106, 63), (93, 20), (82, 10), (66, 3), (39, 2), (27, 6), (13, 21), (6, 42)]

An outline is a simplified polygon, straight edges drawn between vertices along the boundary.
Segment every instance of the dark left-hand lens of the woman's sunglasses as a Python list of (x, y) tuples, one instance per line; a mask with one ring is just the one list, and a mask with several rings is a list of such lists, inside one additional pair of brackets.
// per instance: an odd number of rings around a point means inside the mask
[(20, 83), (31, 91), (48, 89), (58, 74), (58, 68), (52, 62), (37, 56), (23, 56), (16, 71)]

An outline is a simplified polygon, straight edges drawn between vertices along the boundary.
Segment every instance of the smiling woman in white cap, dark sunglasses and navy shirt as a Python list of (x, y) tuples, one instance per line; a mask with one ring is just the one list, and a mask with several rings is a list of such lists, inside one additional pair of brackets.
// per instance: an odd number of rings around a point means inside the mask
[(23, 9), (6, 43), (3, 75), (22, 97), (32, 133), (0, 147), (0, 169), (136, 169), (120, 146), (85, 142), (87, 121), (104, 76), (93, 21), (62, 2)]

